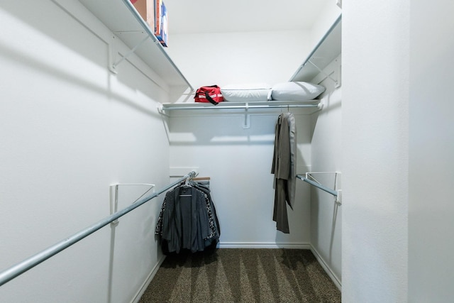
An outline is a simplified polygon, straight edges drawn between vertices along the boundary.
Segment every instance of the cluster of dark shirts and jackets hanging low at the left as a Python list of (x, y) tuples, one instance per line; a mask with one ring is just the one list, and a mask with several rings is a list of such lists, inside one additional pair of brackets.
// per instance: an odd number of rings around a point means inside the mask
[(215, 246), (221, 230), (209, 188), (191, 182), (167, 192), (155, 233), (163, 253), (195, 253)]

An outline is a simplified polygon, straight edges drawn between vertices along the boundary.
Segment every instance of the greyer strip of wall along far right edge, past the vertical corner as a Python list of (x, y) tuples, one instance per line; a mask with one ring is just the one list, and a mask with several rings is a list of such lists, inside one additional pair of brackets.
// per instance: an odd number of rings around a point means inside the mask
[(411, 3), (409, 302), (453, 300), (453, 11), (452, 1)]

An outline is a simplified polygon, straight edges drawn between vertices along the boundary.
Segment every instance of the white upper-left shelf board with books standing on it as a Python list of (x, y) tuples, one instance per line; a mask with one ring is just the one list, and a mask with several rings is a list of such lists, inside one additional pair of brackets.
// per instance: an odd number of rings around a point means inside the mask
[(129, 0), (79, 1), (129, 48), (134, 48), (148, 36), (143, 45), (135, 50), (135, 54), (170, 86), (188, 86), (194, 89), (167, 55), (153, 34), (154, 29), (143, 21)]

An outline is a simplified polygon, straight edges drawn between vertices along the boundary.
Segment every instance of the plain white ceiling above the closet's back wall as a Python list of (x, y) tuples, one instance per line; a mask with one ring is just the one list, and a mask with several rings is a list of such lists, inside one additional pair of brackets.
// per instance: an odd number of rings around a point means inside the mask
[(335, 0), (164, 0), (169, 33), (227, 33), (311, 28)]

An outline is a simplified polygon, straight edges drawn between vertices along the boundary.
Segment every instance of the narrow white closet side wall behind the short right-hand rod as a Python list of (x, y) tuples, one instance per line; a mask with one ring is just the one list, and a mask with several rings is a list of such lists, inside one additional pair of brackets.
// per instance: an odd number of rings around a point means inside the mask
[[(341, 55), (325, 69), (341, 83)], [(311, 171), (341, 172), (314, 174), (316, 180), (332, 189), (342, 189), (342, 88), (335, 87), (331, 79), (318, 75), (311, 82), (321, 83), (326, 92), (321, 95), (323, 111), (312, 116), (314, 128), (311, 140)], [(337, 178), (337, 180), (336, 180)], [(306, 185), (309, 187), (309, 184)], [(336, 284), (341, 286), (342, 208), (335, 197), (311, 188), (311, 245), (326, 264)]]

